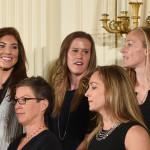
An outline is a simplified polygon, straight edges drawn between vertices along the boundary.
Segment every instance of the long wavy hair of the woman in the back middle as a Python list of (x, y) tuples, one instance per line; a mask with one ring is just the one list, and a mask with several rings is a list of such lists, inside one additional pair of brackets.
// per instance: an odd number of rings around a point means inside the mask
[(62, 42), (60, 56), (56, 62), (56, 72), (53, 76), (52, 85), (54, 87), (55, 100), (53, 103), (52, 117), (56, 117), (59, 115), (64, 101), (65, 93), (70, 84), (69, 69), (67, 66), (67, 53), (72, 41), (76, 38), (85, 38), (91, 42), (91, 58), (87, 68), (87, 72), (80, 80), (79, 88), (73, 97), (70, 111), (74, 111), (80, 103), (80, 100), (84, 96), (84, 93), (88, 87), (89, 78), (96, 67), (95, 44), (91, 35), (83, 31), (76, 31), (69, 34)]

